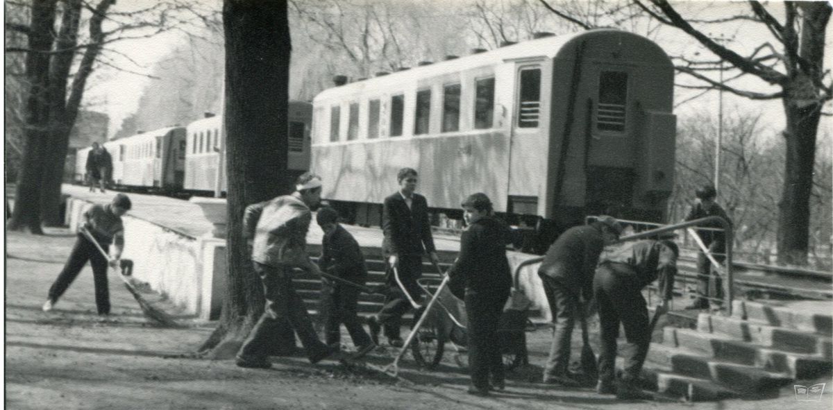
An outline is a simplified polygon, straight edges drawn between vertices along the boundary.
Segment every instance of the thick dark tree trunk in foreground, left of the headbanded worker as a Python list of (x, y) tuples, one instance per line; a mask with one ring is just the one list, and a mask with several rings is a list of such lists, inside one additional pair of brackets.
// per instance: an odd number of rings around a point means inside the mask
[[(247, 205), (288, 193), (287, 101), (292, 45), (287, 2), (225, 0), (227, 291), (220, 323), (200, 350), (232, 358), (263, 313), (260, 278), (242, 238)], [(279, 335), (276, 335), (276, 338)]]

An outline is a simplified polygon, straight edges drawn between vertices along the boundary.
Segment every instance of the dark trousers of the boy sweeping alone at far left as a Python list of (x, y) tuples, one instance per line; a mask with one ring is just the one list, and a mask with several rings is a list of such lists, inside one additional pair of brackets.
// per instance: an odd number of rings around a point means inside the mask
[[(104, 252), (107, 252), (109, 246), (102, 245), (102, 248)], [(80, 233), (75, 240), (75, 246), (72, 247), (72, 252), (69, 253), (67, 263), (63, 266), (61, 273), (58, 273), (52, 287), (49, 288), (49, 299), (52, 302), (57, 302), (57, 299), (61, 298), (61, 295), (67, 291), (72, 281), (77, 278), (78, 273), (81, 272), (87, 261), (90, 261), (92, 266), (98, 314), (110, 313), (110, 290), (107, 288), (107, 258), (104, 258), (104, 255), (98, 252), (96, 246)]]

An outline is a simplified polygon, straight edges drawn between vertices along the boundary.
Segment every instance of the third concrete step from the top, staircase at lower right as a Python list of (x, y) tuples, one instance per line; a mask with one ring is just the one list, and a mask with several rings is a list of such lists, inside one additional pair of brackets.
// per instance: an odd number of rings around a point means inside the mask
[(791, 378), (817, 378), (830, 374), (833, 369), (833, 362), (818, 354), (785, 352), (693, 329), (665, 328), (664, 331), (664, 340), (668, 346), (687, 348), (706, 354), (710, 358), (749, 365), (773, 373), (786, 373)]

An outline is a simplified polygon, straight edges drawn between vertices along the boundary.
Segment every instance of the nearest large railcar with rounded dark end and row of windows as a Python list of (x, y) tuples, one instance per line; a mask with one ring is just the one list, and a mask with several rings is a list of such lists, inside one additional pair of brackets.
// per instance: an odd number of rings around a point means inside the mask
[[(661, 222), (674, 186), (674, 70), (656, 43), (596, 29), (421, 62), (313, 101), (323, 198), (377, 225), (397, 170), (435, 214), (470, 193), (550, 240), (586, 215)], [(547, 231), (541, 232), (541, 231)]]

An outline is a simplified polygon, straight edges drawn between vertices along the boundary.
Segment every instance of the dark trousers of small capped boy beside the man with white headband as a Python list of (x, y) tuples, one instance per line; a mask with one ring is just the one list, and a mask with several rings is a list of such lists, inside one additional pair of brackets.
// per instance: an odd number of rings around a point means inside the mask
[(342, 323), (347, 328), (347, 333), (350, 333), (354, 345), (361, 348), (371, 343), (370, 336), (362, 328), (362, 322), (356, 314), (359, 292), (357, 288), (336, 285), (332, 293), (325, 294), (324, 311), (327, 312), (327, 318), (324, 321), (324, 333), (327, 344), (332, 345), (341, 341), (342, 332), (339, 326)]

